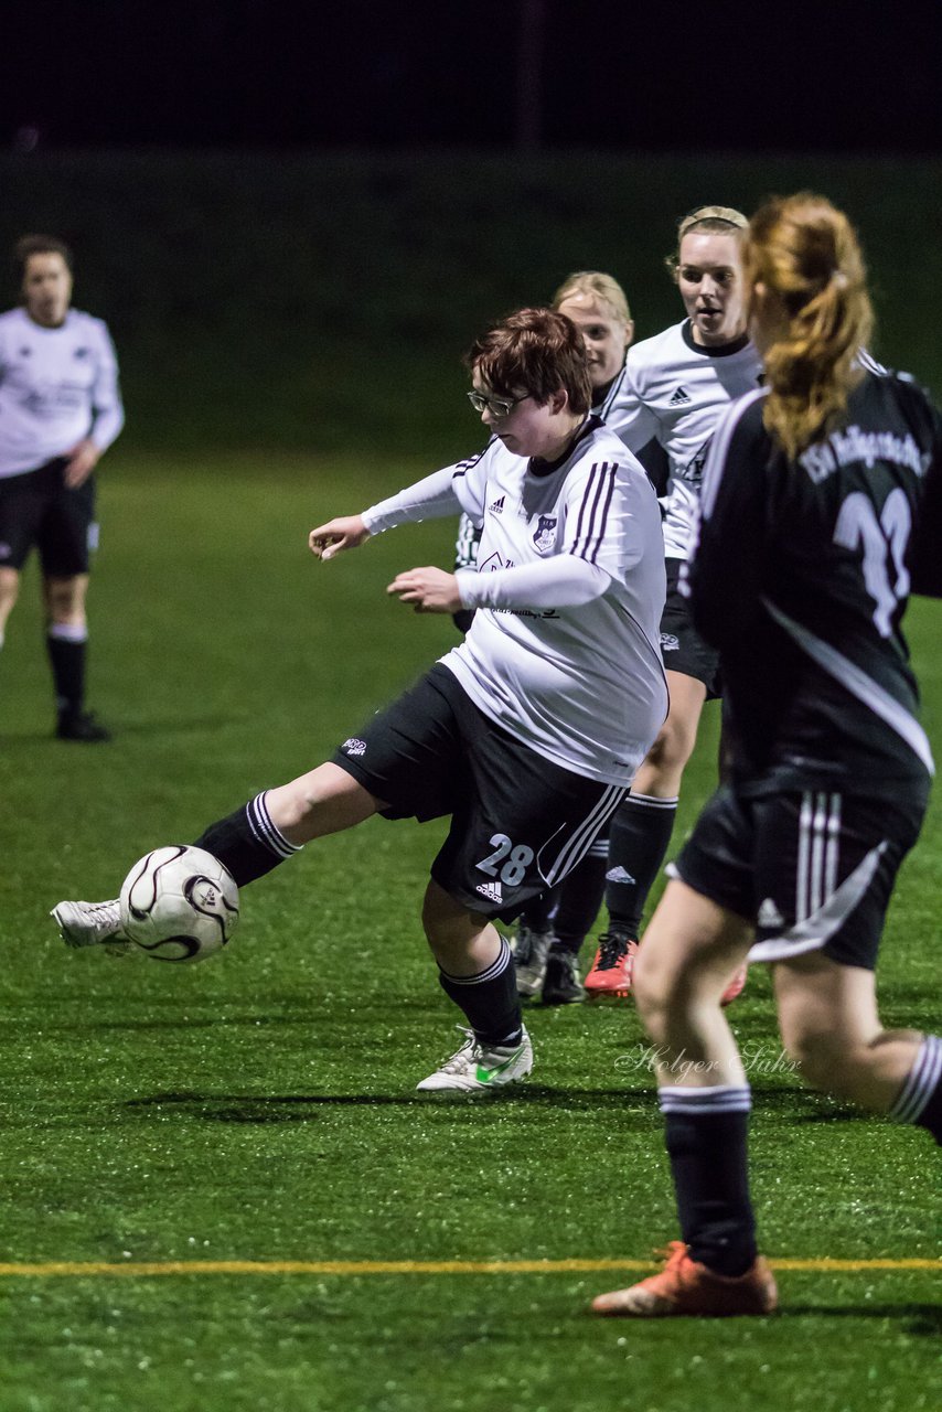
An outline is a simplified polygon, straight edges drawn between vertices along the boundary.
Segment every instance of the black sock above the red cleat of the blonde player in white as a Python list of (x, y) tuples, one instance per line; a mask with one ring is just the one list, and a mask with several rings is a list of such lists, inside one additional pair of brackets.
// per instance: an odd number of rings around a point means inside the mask
[(628, 795), (612, 820), (604, 901), (609, 929), (638, 938), (641, 914), (671, 844), (676, 799)]

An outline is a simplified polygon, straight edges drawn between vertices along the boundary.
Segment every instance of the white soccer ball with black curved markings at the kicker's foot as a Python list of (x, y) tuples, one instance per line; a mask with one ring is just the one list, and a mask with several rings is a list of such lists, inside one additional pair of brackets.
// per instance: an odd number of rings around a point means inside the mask
[(239, 925), (239, 888), (203, 849), (174, 843), (138, 858), (121, 887), (121, 926), (155, 962), (202, 962)]

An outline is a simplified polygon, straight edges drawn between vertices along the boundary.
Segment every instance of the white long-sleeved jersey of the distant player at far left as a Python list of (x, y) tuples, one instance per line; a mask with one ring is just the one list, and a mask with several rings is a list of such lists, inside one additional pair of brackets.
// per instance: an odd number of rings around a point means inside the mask
[(106, 450), (124, 409), (102, 319), (69, 309), (54, 329), (25, 309), (0, 315), (0, 477), (21, 476), (90, 436)]

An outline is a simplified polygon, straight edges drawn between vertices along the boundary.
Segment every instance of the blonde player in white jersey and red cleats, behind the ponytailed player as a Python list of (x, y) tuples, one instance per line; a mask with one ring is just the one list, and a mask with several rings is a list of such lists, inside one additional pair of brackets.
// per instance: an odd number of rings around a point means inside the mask
[[(606, 905), (609, 926), (586, 976), (590, 995), (631, 988), (641, 914), (676, 818), (684, 768), (696, 744), (703, 703), (719, 695), (719, 658), (696, 633), (678, 590), (689, 556), (703, 463), (720, 414), (754, 391), (758, 353), (746, 332), (740, 250), (746, 217), (727, 206), (700, 206), (681, 220), (668, 267), (686, 318), (628, 349), (626, 376), (606, 424), (631, 449), (655, 438), (667, 450), (669, 481), (661, 500), (668, 597), (661, 651), (671, 712), (612, 820)], [(727, 998), (744, 980), (730, 979)]]

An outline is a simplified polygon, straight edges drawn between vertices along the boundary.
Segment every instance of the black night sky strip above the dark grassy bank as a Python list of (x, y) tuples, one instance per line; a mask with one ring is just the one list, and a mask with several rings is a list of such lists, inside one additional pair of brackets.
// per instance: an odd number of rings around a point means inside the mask
[[(41, 145), (938, 148), (942, 6), (20, 0), (0, 134)], [(17, 136), (18, 134), (18, 136)]]

